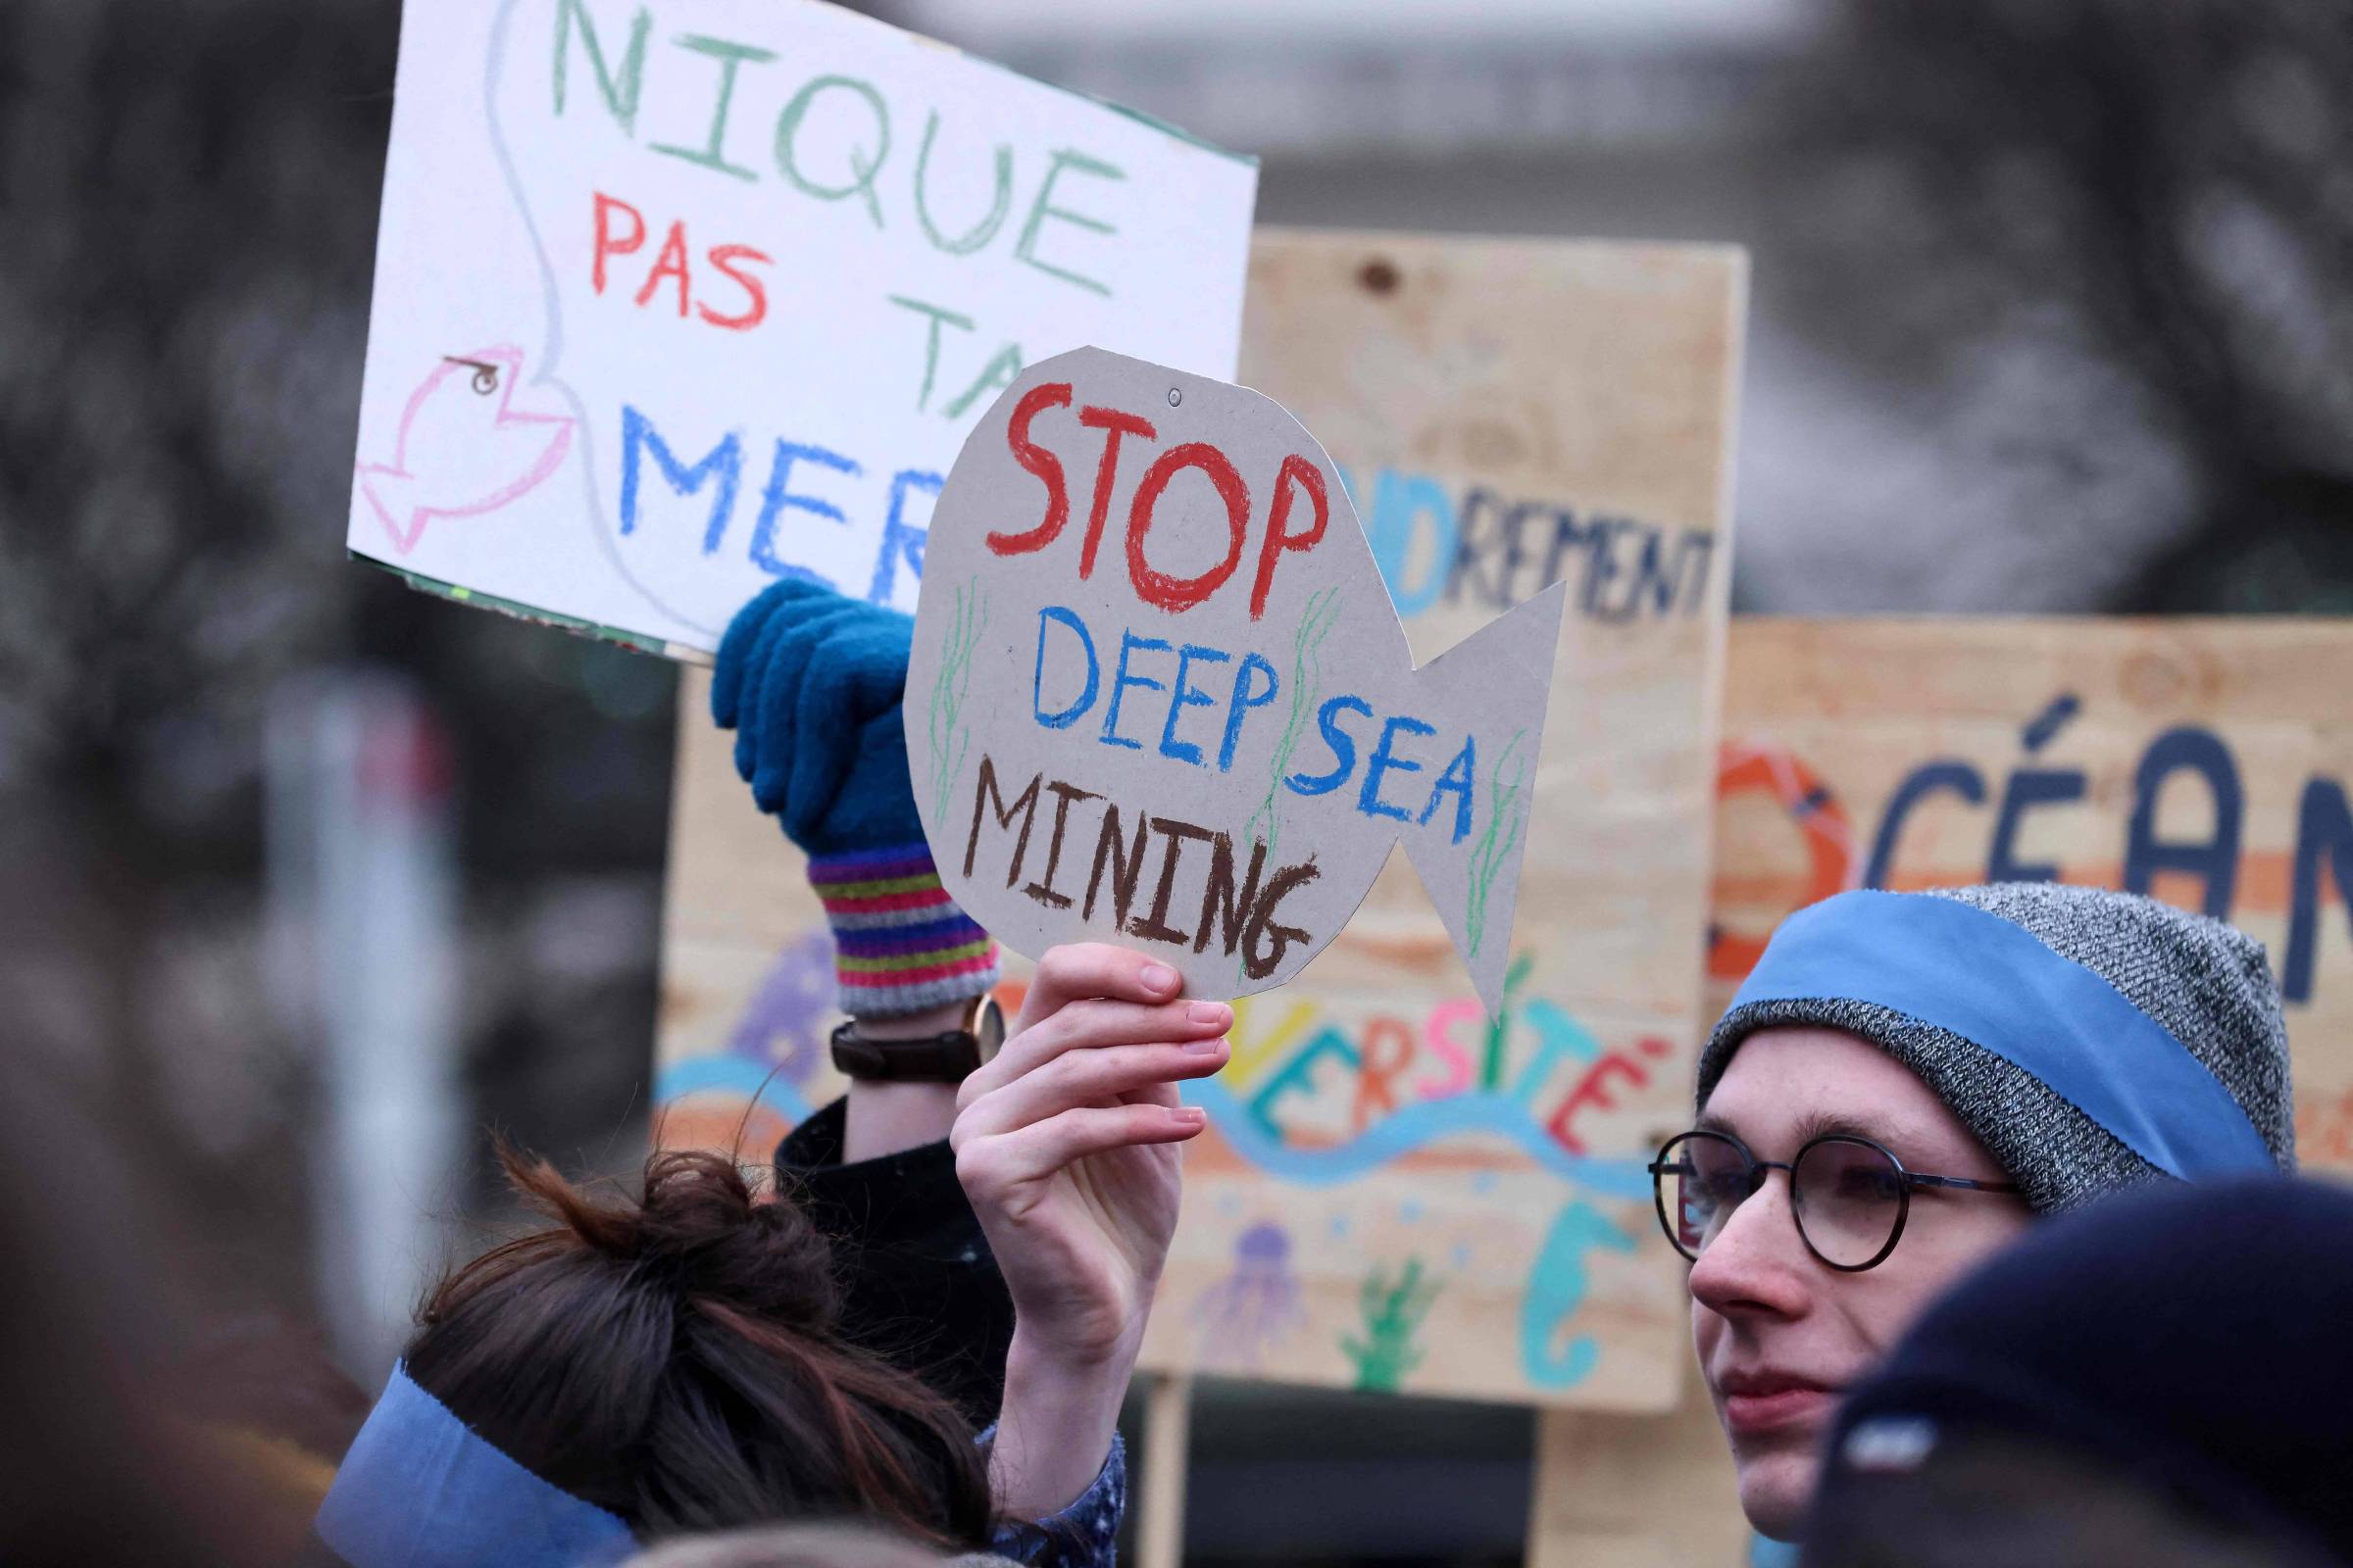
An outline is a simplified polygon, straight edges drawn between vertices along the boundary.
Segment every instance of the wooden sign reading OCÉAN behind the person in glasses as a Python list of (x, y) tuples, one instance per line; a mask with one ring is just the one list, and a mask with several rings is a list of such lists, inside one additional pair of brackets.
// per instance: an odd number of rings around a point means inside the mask
[[(1784, 914), (1866, 879), (2132, 884), (2268, 947), (2301, 1159), (2353, 1171), (2348, 689), (2341, 621), (1734, 621), (1711, 1011)], [(2238, 853), (2212, 851), (2233, 818)], [(1713, 1427), (1697, 1396), (1671, 1422), (1546, 1415), (1529, 1561), (1739, 1563)]]

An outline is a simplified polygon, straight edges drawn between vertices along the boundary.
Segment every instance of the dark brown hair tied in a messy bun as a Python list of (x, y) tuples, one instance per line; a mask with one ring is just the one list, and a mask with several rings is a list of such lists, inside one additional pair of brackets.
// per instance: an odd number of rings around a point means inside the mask
[(454, 1269), (409, 1378), (513, 1460), (640, 1537), (866, 1519), (944, 1547), (988, 1535), (972, 1429), (842, 1342), (826, 1239), (722, 1154), (659, 1152), (600, 1204), (499, 1147), (558, 1220)]

